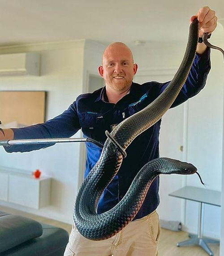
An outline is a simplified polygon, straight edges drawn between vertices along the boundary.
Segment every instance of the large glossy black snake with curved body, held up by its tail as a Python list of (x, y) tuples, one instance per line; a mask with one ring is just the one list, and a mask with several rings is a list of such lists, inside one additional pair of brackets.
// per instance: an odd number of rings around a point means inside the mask
[(169, 86), (150, 105), (116, 126), (110, 135), (112, 139), (108, 138), (105, 142), (99, 161), (82, 183), (76, 198), (73, 219), (78, 231), (87, 239), (108, 239), (132, 221), (157, 175), (194, 174), (197, 171), (194, 165), (173, 159), (158, 158), (150, 161), (138, 172), (125, 197), (114, 208), (105, 213), (96, 213), (99, 197), (121, 166), (124, 155), (122, 150), (124, 153), (139, 134), (155, 124), (176, 99), (194, 61), (198, 34), (199, 24), (195, 19), (190, 25), (183, 61)]

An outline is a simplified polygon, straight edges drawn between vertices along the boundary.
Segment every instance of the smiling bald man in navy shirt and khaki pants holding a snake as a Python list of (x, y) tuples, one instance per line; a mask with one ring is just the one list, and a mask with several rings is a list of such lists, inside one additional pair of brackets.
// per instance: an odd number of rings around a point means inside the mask
[[(201, 8), (196, 16), (200, 22), (200, 37), (213, 32), (217, 25), (215, 12), (209, 7)], [(6, 129), (0, 139), (34, 139), (69, 137), (82, 128), (83, 134), (104, 143), (105, 130), (111, 131), (125, 118), (150, 104), (168, 86), (167, 83), (147, 82), (138, 85), (133, 77), (138, 69), (130, 49), (120, 42), (110, 44), (103, 53), (99, 74), (105, 87), (91, 94), (78, 96), (77, 100), (60, 116), (35, 126)], [(204, 86), (210, 70), (210, 49), (198, 43), (197, 55), (190, 75), (172, 107), (196, 95)], [(160, 121), (139, 135), (127, 148), (119, 173), (115, 176), (99, 200), (98, 213), (108, 211), (125, 195), (138, 170), (146, 162), (159, 157)], [(49, 145), (7, 146), (7, 152), (25, 152)], [(86, 175), (98, 161), (101, 149), (86, 143)], [(142, 208), (124, 230), (103, 241), (90, 241), (79, 234), (73, 226), (65, 256), (156, 256), (158, 255), (159, 178), (152, 183)]]

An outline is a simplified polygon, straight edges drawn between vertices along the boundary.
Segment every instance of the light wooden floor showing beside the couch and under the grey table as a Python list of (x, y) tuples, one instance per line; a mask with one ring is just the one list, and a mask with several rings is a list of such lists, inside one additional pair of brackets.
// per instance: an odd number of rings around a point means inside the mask
[[(0, 211), (19, 214), (24, 217), (32, 218), (36, 221), (40, 221), (46, 224), (54, 225), (61, 227), (71, 232), (72, 226), (64, 222), (55, 221), (52, 219), (40, 217), (30, 213), (24, 213), (12, 208), (0, 206)], [(188, 233), (184, 231), (170, 231), (170, 230), (161, 230), (161, 235), (159, 239), (159, 256), (208, 256), (208, 254), (199, 246), (188, 246), (188, 247), (177, 247), (178, 242), (188, 239)], [(220, 256), (219, 245), (209, 245), (211, 250), (214, 253), (214, 256)]]

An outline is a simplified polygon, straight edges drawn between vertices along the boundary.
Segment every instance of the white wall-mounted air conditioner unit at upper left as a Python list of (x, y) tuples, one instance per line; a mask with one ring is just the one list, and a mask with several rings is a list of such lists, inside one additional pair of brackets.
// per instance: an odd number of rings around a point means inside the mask
[(0, 54), (0, 76), (39, 76), (40, 55), (34, 52)]

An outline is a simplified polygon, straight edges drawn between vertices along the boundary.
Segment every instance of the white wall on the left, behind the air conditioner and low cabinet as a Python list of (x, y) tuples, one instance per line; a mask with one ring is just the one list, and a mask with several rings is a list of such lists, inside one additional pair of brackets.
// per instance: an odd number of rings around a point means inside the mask
[[(0, 49), (6, 52), (39, 52), (39, 77), (1, 77), (0, 90), (47, 91), (46, 119), (62, 113), (82, 93), (85, 41), (28, 45)], [(9, 99), (10, 101), (10, 99)], [(7, 110), (6, 110), (7, 111)], [(77, 137), (81, 136), (78, 132)], [(28, 153), (6, 153), (0, 148), (0, 165), (33, 171), (52, 177), (51, 206), (39, 211), (4, 204), (21, 210), (72, 223), (73, 203), (79, 183), (80, 143), (56, 144), (53, 147)]]

